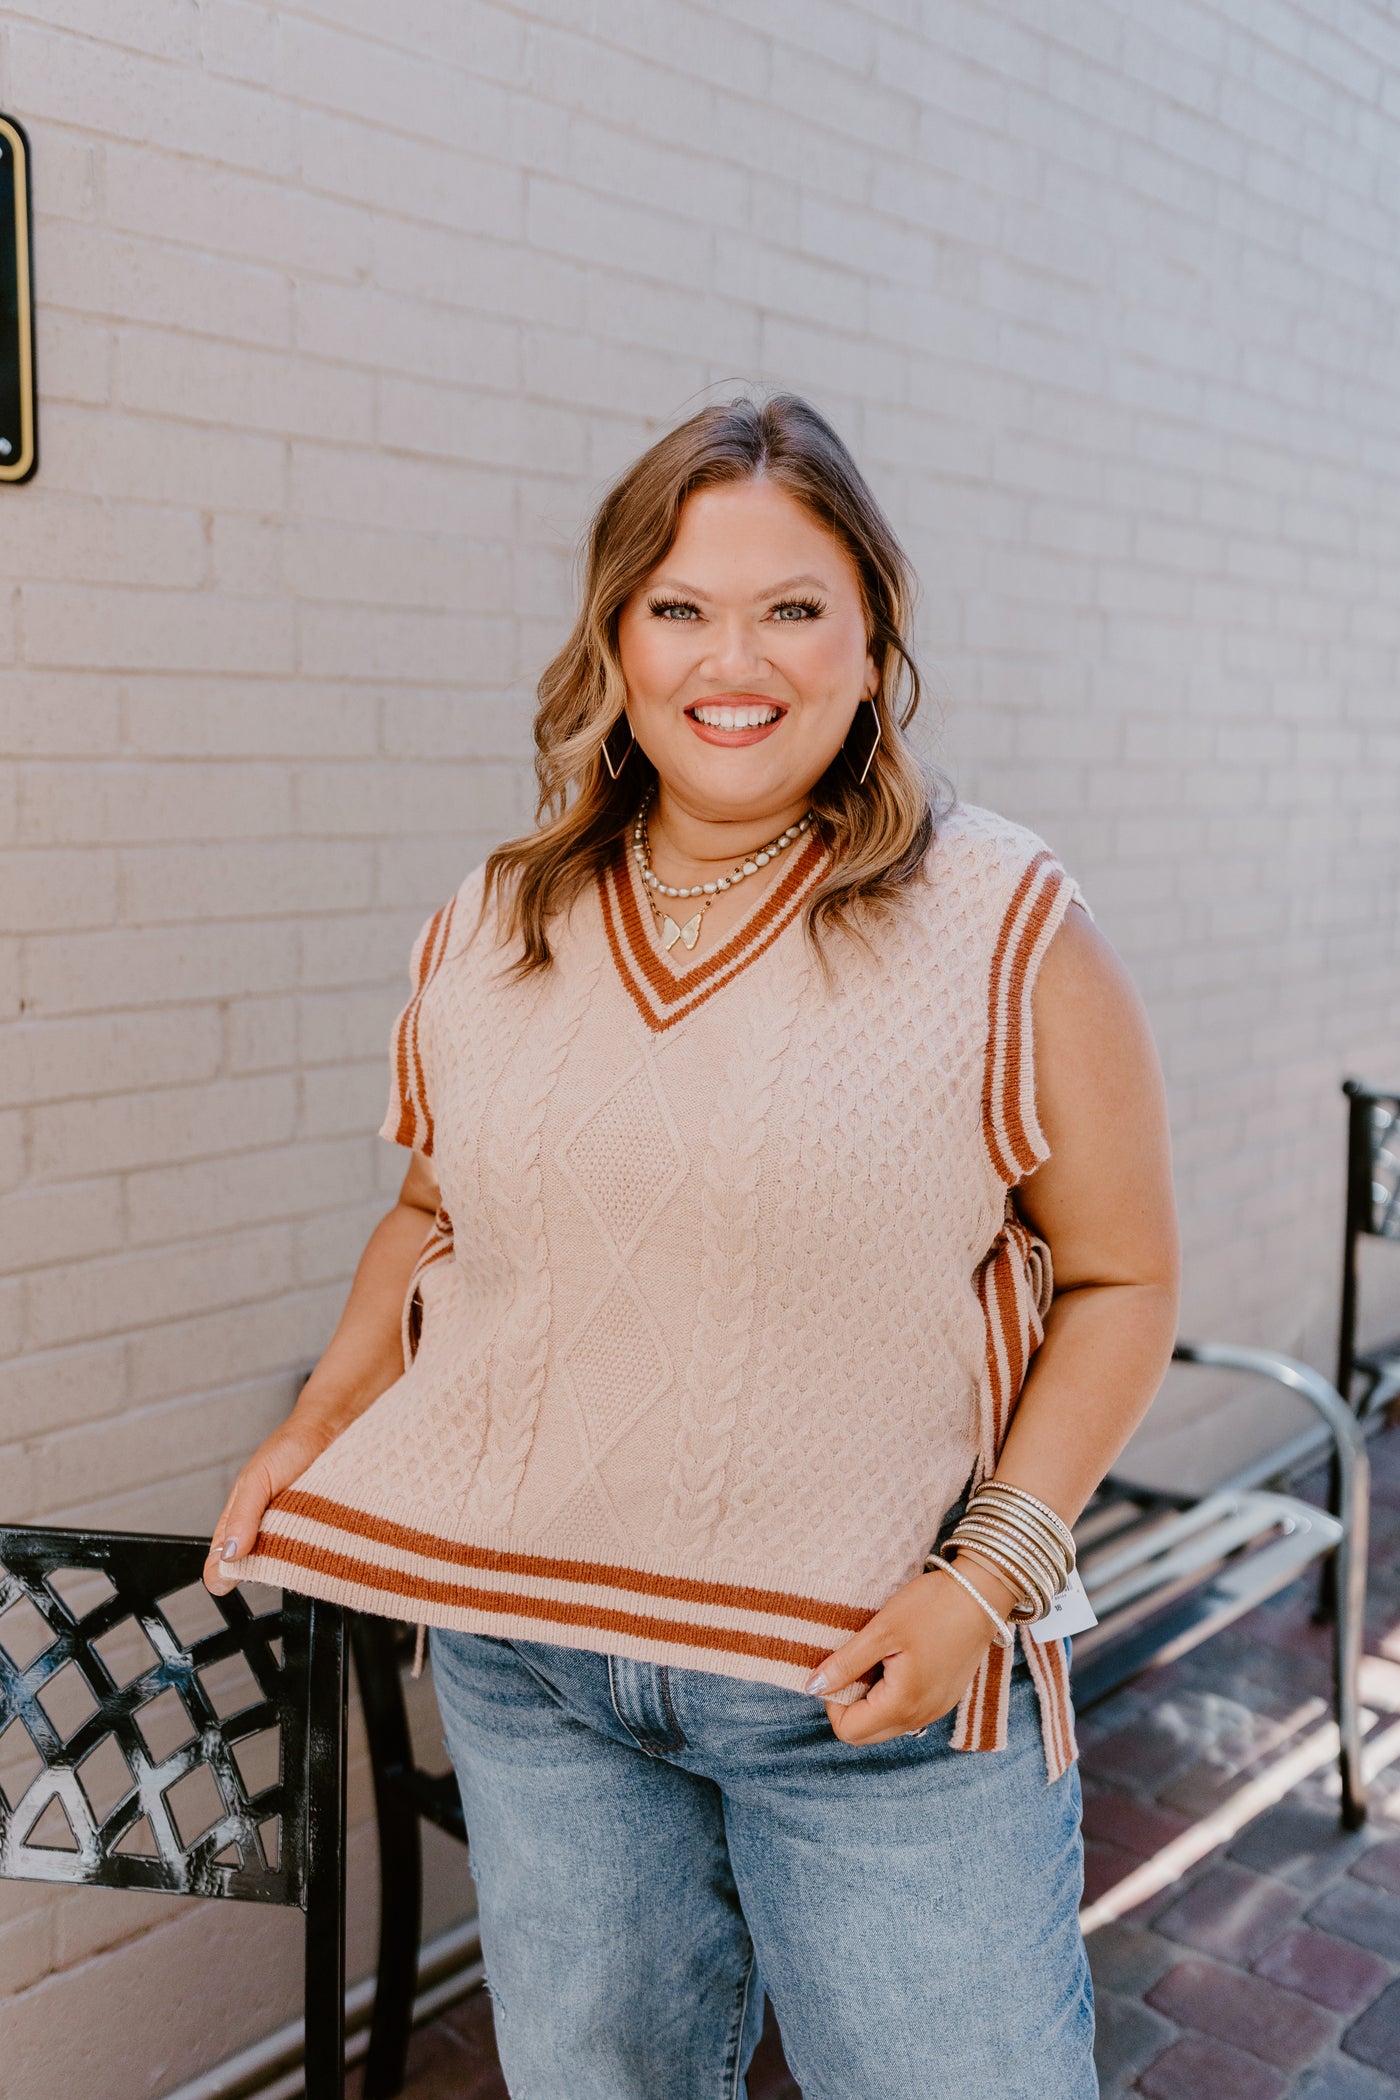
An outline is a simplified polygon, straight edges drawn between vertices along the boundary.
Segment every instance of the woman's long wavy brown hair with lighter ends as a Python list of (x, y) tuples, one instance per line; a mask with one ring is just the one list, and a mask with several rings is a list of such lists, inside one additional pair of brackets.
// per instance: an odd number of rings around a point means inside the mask
[[(921, 697), (905, 550), (846, 445), (808, 401), (724, 401), (657, 439), (609, 489), (590, 525), (579, 615), (539, 680), (539, 821), (527, 838), (497, 846), (485, 867), (485, 903), (497, 897), (502, 934), (521, 943), (521, 974), (548, 968), (552, 918), (617, 855), (655, 783), (640, 746), (632, 746), (617, 779), (602, 762), (602, 741), (628, 701), (617, 615), (665, 561), (686, 498), (760, 477), (796, 496), (850, 554), (879, 674), (879, 748), (865, 785), (837, 754), (812, 790), (831, 867), (806, 901), (808, 937), (821, 947), (827, 928), (858, 934), (863, 916), (890, 909), (924, 867), (940, 783), (905, 737)], [(863, 739), (863, 756), (867, 750)]]

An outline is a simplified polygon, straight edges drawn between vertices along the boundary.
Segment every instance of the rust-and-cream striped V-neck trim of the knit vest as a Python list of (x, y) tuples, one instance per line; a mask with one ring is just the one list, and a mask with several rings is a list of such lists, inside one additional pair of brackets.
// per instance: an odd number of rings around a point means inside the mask
[(691, 970), (676, 970), (649, 934), (646, 905), (632, 880), (623, 840), (613, 863), (598, 876), (598, 897), (613, 964), (646, 1027), (663, 1035), (758, 962), (798, 918), (825, 865), (827, 848), (812, 832), (791, 867), (783, 869), (762, 903), (728, 939)]

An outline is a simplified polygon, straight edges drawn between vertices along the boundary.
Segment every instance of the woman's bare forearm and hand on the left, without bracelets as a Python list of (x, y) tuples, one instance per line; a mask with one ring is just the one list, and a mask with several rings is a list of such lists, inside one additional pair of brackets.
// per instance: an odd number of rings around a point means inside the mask
[(327, 1443), (403, 1373), (403, 1298), (437, 1208), (432, 1168), (413, 1153), (399, 1201), (365, 1243), (325, 1354), (288, 1420), (239, 1472), (214, 1525), (204, 1579), (216, 1596), (235, 1588), (222, 1562), (250, 1552), (273, 1495), (306, 1472)]

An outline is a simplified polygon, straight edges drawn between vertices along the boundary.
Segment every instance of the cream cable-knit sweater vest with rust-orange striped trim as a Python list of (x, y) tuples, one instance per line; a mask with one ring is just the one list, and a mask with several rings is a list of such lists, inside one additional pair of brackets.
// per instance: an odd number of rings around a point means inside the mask
[[(1049, 1302), (1012, 1199), (1047, 1147), (1031, 987), (1077, 895), (957, 806), (928, 882), (837, 937), (810, 838), (676, 966), (619, 855), (510, 981), (481, 874), (424, 926), (384, 1136), (443, 1208), (403, 1378), (235, 1571), (361, 1611), (802, 1686), (995, 1466)], [(1060, 1642), (1024, 1640), (1049, 1777)], [(1005, 1741), (993, 1648), (955, 1728)]]

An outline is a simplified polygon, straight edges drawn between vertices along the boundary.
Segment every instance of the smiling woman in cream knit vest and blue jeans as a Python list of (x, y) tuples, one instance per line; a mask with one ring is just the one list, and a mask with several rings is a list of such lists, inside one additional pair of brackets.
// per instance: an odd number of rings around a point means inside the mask
[(1070, 1525), (1165, 1369), (1142, 1012), (905, 724), (793, 397), (602, 502), (539, 825), (424, 926), (413, 1151), (210, 1550), (432, 1625), (516, 2100), (1087, 2100)]

